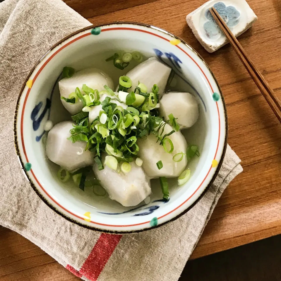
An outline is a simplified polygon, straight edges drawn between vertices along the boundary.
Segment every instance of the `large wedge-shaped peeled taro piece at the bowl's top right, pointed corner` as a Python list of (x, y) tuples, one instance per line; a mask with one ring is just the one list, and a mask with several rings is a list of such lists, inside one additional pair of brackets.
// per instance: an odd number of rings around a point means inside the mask
[(132, 80), (132, 91), (138, 86), (138, 81), (145, 84), (148, 92), (151, 92), (153, 85), (157, 84), (159, 98), (161, 98), (165, 91), (170, 72), (171, 68), (169, 66), (162, 64), (156, 57), (152, 57), (134, 67), (126, 76)]

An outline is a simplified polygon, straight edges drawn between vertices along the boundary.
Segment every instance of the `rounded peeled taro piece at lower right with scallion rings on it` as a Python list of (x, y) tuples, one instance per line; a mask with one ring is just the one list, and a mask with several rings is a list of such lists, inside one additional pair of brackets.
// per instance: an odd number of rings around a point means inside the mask
[[(169, 124), (166, 124), (162, 136), (172, 130), (173, 128)], [(162, 128), (160, 128), (160, 132), (162, 132)], [(138, 156), (143, 160), (142, 167), (145, 174), (150, 179), (156, 179), (158, 177), (178, 177), (187, 165), (186, 155), (184, 155), (180, 162), (175, 162), (173, 160), (173, 156), (177, 153), (186, 153), (187, 143), (184, 136), (178, 131), (172, 133), (172, 135), (167, 138), (169, 138), (174, 145), (172, 153), (167, 153), (164, 147), (160, 145), (159, 141), (156, 143), (157, 137), (154, 134), (150, 134), (146, 139), (140, 138), (137, 141), (139, 146)], [(170, 146), (168, 142), (166, 143), (166, 147), (169, 151)], [(162, 161), (163, 167), (159, 170), (156, 163), (160, 160)]]

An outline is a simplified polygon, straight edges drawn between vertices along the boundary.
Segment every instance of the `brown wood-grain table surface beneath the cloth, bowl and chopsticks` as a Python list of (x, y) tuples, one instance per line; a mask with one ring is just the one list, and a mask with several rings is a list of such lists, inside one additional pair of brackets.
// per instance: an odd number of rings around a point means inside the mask
[[(189, 43), (214, 72), (227, 104), (228, 143), (242, 160), (240, 174), (220, 198), (191, 258), (281, 233), (281, 125), (242, 63), (227, 45), (206, 52), (185, 17), (204, 0), (65, 0), (100, 25), (140, 21), (164, 28)], [(258, 21), (239, 37), (258, 69), (281, 98), (281, 8), (278, 0), (249, 0)], [(0, 281), (78, 280), (27, 239), (0, 227)], [(149, 280), (149, 279), (148, 279)]]

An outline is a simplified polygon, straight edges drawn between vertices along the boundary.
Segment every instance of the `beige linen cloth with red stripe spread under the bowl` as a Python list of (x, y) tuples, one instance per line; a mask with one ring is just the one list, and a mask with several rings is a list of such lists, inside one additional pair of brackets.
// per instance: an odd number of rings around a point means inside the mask
[(20, 88), (53, 44), (88, 25), (60, 0), (0, 3), (0, 224), (83, 280), (178, 280), (222, 192), (242, 172), (229, 146), (213, 185), (189, 212), (160, 228), (131, 235), (101, 234), (65, 220), (45, 205), (21, 172), (13, 138)]

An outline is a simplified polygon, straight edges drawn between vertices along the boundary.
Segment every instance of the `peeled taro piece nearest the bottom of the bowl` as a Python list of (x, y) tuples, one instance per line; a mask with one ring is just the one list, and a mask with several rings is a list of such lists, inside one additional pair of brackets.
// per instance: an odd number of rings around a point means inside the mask
[[(106, 155), (103, 153), (102, 163), (104, 163)], [(137, 166), (134, 161), (130, 165), (131, 171), (128, 173), (122, 171), (118, 173), (105, 164), (101, 171), (96, 163), (93, 166), (93, 171), (109, 194), (109, 198), (125, 207), (138, 205), (151, 193), (150, 180), (146, 177), (142, 167)]]

